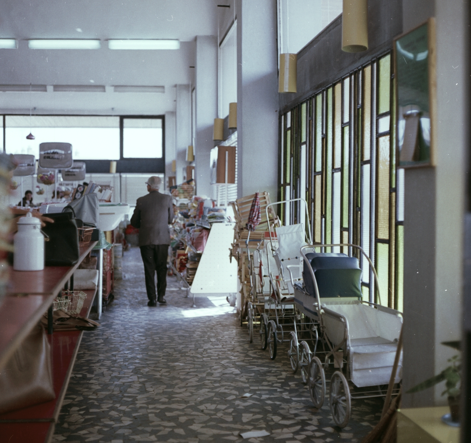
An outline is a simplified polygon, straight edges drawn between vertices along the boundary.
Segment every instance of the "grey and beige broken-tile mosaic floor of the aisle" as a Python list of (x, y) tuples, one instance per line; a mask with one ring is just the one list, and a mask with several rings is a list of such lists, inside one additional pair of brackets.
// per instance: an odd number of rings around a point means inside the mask
[[(377, 423), (382, 401), (371, 399), (352, 401), (336, 427), (328, 399), (313, 408), (292, 374), (286, 345), (271, 361), (227, 302), (192, 309), (175, 277), (168, 305), (148, 308), (137, 248), (123, 267), (101, 327), (83, 336), (54, 442), (359, 442)], [(243, 440), (250, 430), (270, 435)]]

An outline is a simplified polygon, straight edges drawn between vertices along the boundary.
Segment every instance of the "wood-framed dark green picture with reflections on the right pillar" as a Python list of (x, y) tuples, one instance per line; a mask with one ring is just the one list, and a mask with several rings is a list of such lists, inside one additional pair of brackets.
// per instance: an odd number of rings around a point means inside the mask
[(435, 166), (435, 18), (394, 39), (398, 167)]

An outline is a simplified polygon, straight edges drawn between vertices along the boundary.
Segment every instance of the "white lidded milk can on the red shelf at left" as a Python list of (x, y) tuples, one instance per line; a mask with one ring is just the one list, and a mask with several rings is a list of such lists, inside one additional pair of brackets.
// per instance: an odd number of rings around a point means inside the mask
[(16, 271), (41, 271), (44, 269), (44, 236), (41, 234), (41, 220), (28, 212), (18, 222), (18, 232), (13, 243), (13, 269)]

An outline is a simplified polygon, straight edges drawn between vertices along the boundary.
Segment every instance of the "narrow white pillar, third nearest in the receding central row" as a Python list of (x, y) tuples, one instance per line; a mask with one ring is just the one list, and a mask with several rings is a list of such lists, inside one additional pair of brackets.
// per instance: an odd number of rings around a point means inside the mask
[(186, 161), (187, 146), (191, 144), (191, 100), (190, 85), (177, 84), (176, 102), (176, 160), (177, 160), (177, 184), (183, 182), (186, 175), (184, 168), (189, 165)]

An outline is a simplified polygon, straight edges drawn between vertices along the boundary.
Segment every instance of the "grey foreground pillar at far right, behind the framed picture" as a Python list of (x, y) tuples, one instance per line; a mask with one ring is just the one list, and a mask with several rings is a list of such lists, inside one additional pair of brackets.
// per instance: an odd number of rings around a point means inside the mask
[[(436, 17), (437, 165), (406, 169), (404, 218), (403, 389), (438, 374), (457, 352), (442, 344), (461, 338), (463, 287), (466, 13), (460, 0), (403, 2), (404, 31)], [(443, 383), (402, 407), (446, 404)]]

